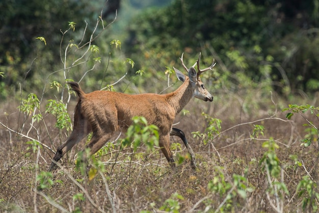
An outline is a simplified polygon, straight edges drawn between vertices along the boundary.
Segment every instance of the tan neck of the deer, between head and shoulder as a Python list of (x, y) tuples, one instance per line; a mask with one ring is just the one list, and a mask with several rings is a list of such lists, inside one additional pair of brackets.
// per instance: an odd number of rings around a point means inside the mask
[(177, 90), (167, 94), (168, 103), (175, 109), (176, 114), (192, 99), (193, 93), (194, 87), (187, 78)]

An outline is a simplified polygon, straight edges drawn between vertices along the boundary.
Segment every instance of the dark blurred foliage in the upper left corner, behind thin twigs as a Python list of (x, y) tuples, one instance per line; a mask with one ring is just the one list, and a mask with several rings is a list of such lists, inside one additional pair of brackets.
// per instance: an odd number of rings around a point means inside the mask
[(97, 18), (88, 1), (10, 0), (0, 1), (0, 8), (0, 71), (4, 73), (0, 81), (5, 83), (0, 91), (18, 90), (19, 84), (28, 91), (43, 88), (41, 80), (61, 68), (61, 32), (68, 28), (68, 21), (84, 29), (85, 20)]

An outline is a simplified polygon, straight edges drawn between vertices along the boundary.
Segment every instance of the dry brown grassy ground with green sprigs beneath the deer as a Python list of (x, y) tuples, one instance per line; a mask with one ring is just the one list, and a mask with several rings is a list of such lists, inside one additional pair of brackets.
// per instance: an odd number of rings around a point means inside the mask
[[(62, 168), (50, 178), (53, 184), (42, 191), (36, 190), (41, 183), (37, 176), (47, 171), (54, 156), (50, 148), (55, 151), (67, 132), (59, 132), (55, 118), (46, 115), (45, 125), (35, 124), (28, 134), (30, 120), (24, 122), (16, 110), (18, 103), (3, 103), (0, 122), (38, 139), (48, 148), (37, 149), (26, 143), (30, 139), (0, 126), (0, 211), (315, 211), (319, 198), (318, 147), (316, 143), (301, 146), (307, 133), (303, 126), (305, 118), (315, 117), (295, 115), (288, 121), (281, 112), (287, 103), (278, 97), (272, 101), (272, 97), (267, 97), (268, 101), (260, 99), (254, 107), (247, 107), (234, 96), (218, 96), (212, 103), (192, 100), (186, 108), (190, 113), (176, 118), (176, 127), (186, 133), (196, 153), (195, 171), (183, 144), (173, 150), (176, 159), (186, 159), (172, 171), (158, 149), (152, 153), (143, 147), (137, 152), (130, 148), (118, 152), (115, 143), (109, 152), (97, 158), (105, 170), (97, 170), (96, 176), (88, 180), (74, 166), (83, 142), (62, 158)], [(209, 116), (205, 119), (202, 112)], [(211, 120), (214, 118), (222, 121), (221, 129), (217, 120)], [(258, 131), (256, 125), (264, 129)], [(209, 126), (216, 128), (207, 130)], [(202, 137), (193, 138), (194, 131), (200, 131)], [(171, 141), (181, 143), (176, 137)]]

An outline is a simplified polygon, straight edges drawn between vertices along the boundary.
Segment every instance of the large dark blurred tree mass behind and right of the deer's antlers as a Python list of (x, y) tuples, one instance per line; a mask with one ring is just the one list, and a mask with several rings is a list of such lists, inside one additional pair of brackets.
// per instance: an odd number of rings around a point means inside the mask
[(189, 59), (203, 51), (220, 57), (231, 73), (276, 82), (273, 87), (285, 95), (300, 89), (309, 94), (319, 87), (319, 49), (313, 48), (319, 42), (318, 14), (317, 0), (174, 1), (136, 17), (125, 47), (142, 69), (154, 61), (174, 64), (181, 52)]

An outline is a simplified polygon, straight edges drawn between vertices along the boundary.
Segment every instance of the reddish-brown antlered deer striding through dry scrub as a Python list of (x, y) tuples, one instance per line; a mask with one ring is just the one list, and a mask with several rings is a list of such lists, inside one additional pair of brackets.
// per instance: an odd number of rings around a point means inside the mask
[(212, 70), (216, 63), (214, 60), (209, 67), (200, 69), (200, 58), (201, 54), (195, 64), (187, 68), (183, 62), (183, 54), (181, 55), (181, 65), (188, 74), (184, 75), (173, 67), (178, 80), (183, 83), (175, 91), (167, 94), (125, 94), (101, 90), (85, 93), (78, 83), (68, 82), (78, 97), (73, 115), (73, 130), (68, 139), (57, 148), (48, 171), (55, 170), (62, 156), (90, 132), (93, 132), (92, 138), (85, 149), (89, 148), (89, 155), (96, 153), (116, 131), (125, 131), (134, 116), (143, 116), (148, 124), (158, 127), (159, 147), (172, 168), (176, 165), (170, 150), (170, 136), (181, 138), (191, 155), (192, 168), (196, 168), (194, 151), (184, 132), (173, 128), (173, 122), (175, 116), (193, 97), (203, 101), (213, 100), (212, 95), (205, 89), (200, 74)]

